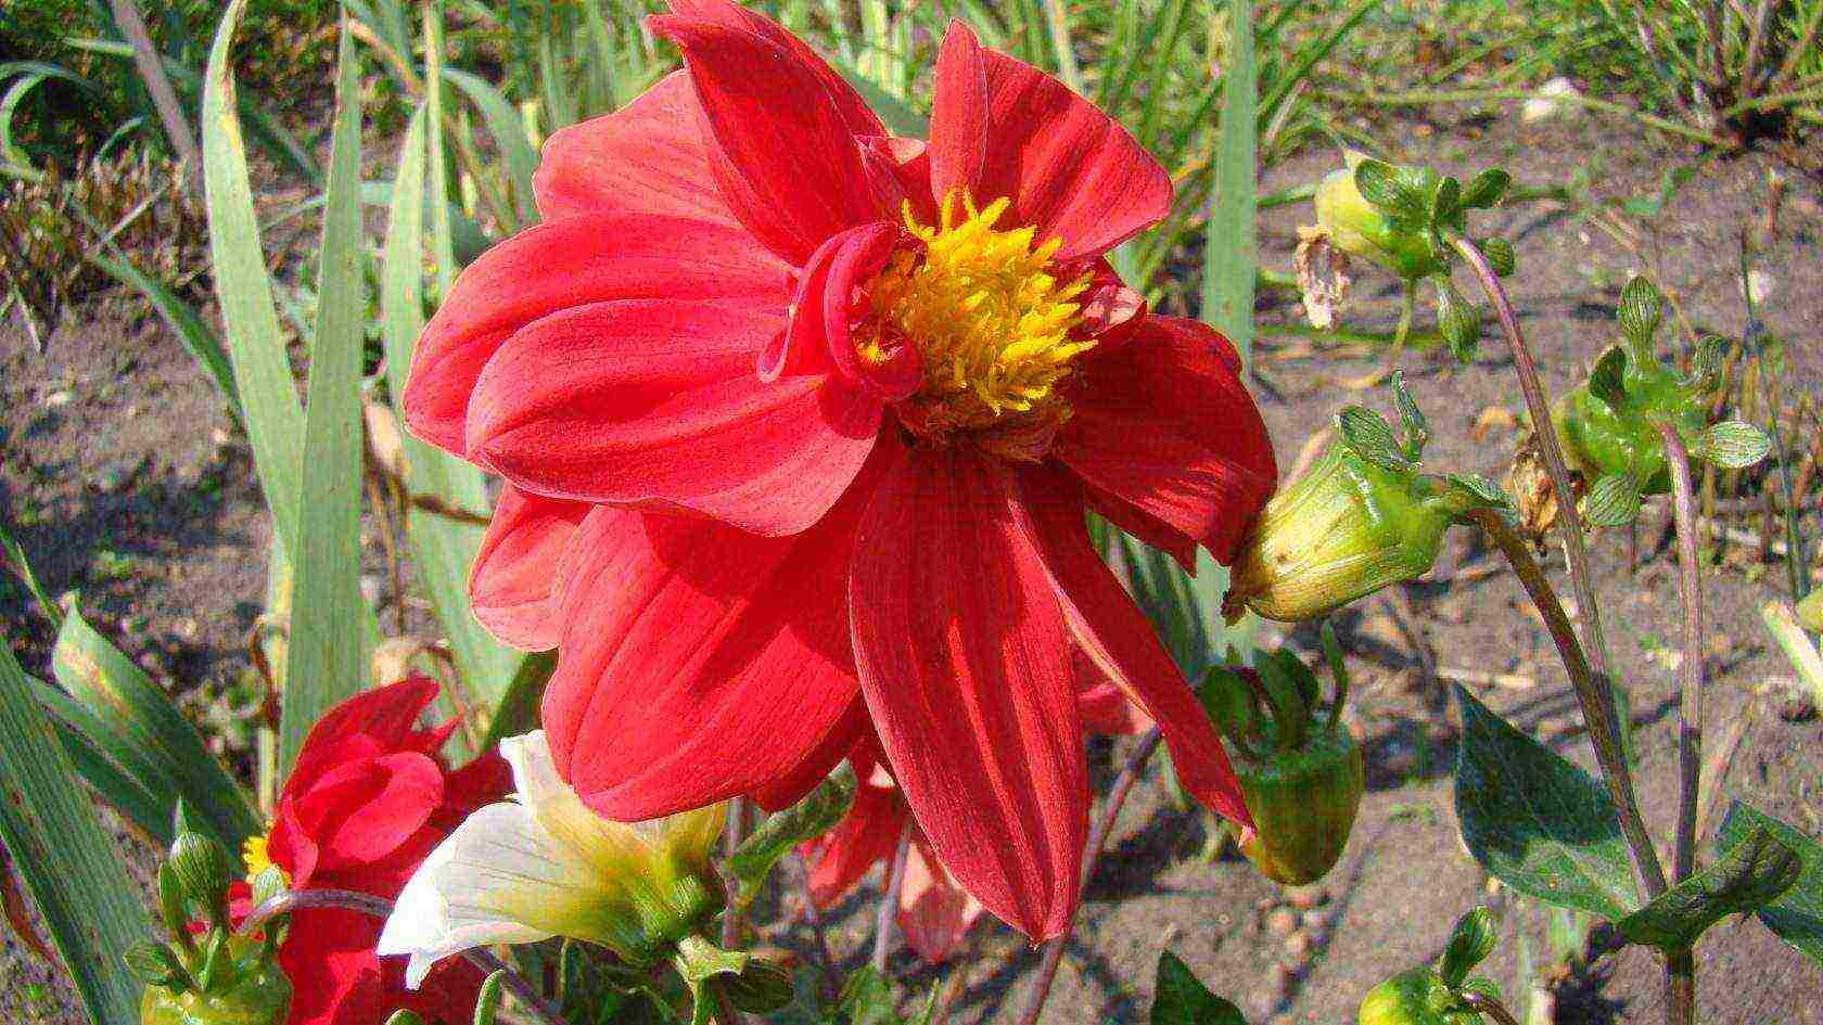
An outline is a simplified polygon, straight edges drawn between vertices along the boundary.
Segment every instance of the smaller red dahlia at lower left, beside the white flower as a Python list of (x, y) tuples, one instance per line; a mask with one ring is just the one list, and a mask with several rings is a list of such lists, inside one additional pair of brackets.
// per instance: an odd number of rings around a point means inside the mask
[[(294, 890), (357, 890), (390, 901), (458, 823), (505, 797), (512, 773), (498, 755), (450, 771), (438, 750), (456, 724), (416, 728), (436, 695), (436, 682), (410, 677), (330, 709), (297, 753), (272, 832), (248, 843), (248, 874), (277, 865)], [(237, 894), (244, 897), (244, 888)], [(374, 954), (379, 928), (359, 912), (292, 914), (279, 948), (294, 989), (288, 1025), (374, 1025), (401, 1007), (443, 1025), (474, 1018), (479, 970), (450, 961), (430, 985), (408, 990), (405, 961)]]

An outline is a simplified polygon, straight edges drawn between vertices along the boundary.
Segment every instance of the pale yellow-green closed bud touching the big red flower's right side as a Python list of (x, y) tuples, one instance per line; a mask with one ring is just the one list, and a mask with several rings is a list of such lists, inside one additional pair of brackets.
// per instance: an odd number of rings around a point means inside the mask
[(1437, 562), (1444, 531), (1469, 503), (1451, 481), (1365, 460), (1333, 443), (1311, 472), (1272, 496), (1234, 562), (1223, 600), (1283, 622), (1325, 616)]

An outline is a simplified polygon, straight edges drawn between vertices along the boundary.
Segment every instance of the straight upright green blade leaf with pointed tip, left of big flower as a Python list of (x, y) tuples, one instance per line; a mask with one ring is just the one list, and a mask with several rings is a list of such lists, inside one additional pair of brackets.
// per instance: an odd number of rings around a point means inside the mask
[(339, 700), (363, 689), (361, 359), (366, 295), (361, 250), (361, 78), (341, 33), (328, 202), (323, 208), (317, 326), (299, 481), (292, 642), (279, 713), (279, 771)]

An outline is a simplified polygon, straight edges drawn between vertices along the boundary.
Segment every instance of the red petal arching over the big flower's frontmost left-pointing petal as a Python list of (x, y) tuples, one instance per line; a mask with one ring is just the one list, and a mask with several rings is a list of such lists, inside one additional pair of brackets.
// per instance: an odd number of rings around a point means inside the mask
[(613, 213), (536, 224), (456, 279), (412, 354), (405, 421), (425, 441), (467, 456), (474, 381), (525, 325), (603, 299), (733, 299), (784, 310), (786, 272), (744, 230), (707, 221)]

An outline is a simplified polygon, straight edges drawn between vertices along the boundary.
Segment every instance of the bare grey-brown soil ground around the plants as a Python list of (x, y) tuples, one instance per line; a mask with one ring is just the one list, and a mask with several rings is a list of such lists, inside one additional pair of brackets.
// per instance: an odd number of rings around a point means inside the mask
[[(1823, 372), (1823, 202), (1816, 179), (1763, 155), (1712, 160), (1657, 140), (1617, 133), (1590, 120), (1519, 126), (1511, 109), (1486, 117), (1404, 122), (1407, 159), (1468, 177), (1502, 162), (1522, 182), (1564, 182), (1581, 168), (1601, 199), (1652, 192), (1663, 168), (1701, 164), (1641, 248), (1621, 244), (1560, 202), (1522, 202), (1495, 213), (1515, 241), (1520, 274), (1511, 279), (1524, 328), (1553, 390), (1581, 376), (1612, 341), (1619, 286), (1652, 270), (1699, 328), (1739, 336), (1743, 303), (1735, 263), (1741, 224), (1763, 217), (1766, 175), (1788, 175), (1781, 233), (1757, 268), (1770, 275), (1761, 316), (1792, 341), (1788, 383), (1819, 390)], [(1274, 168), (1265, 188), (1311, 181), (1334, 164), (1309, 153)], [(1305, 208), (1265, 217), (1262, 257), (1289, 268), (1294, 224)], [(1356, 326), (1389, 326), (1391, 288), (1364, 275), (1351, 316)], [(1468, 285), (1464, 281), (1464, 285)], [(118, 295), (89, 301), (66, 316), (46, 356), (16, 325), (0, 326), (0, 516), (16, 529), (46, 587), (82, 591), (82, 607), (126, 651), (142, 658), (202, 717), (244, 671), (244, 637), (259, 613), (270, 527), (253, 483), (244, 440), (208, 381), (177, 341)], [(1265, 323), (1298, 310), (1267, 297)], [(1298, 343), (1267, 341), (1258, 350), (1258, 388), (1267, 423), (1289, 465), (1311, 430), (1345, 401), (1389, 407), (1384, 390), (1349, 392), (1338, 379), (1364, 374), (1376, 356), (1298, 356)], [(1486, 328), (1482, 359), (1455, 367), (1442, 356), (1406, 354), (1402, 367), (1429, 414), (1433, 469), (1499, 478), (1513, 432), (1471, 430), (1489, 407), (1520, 410), (1504, 343)], [(1615, 666), (1624, 677), (1637, 724), (1641, 795), (1659, 837), (1668, 835), (1675, 795), (1675, 560), (1655, 503), (1641, 531), (1643, 565), (1628, 571), (1624, 542), (1593, 544), (1606, 598)], [(1743, 522), (1757, 529), (1757, 518)], [(1046, 1021), (1143, 1021), (1161, 948), (1176, 950), (1216, 992), (1232, 998), (1249, 1021), (1354, 1020), (1367, 987), (1435, 958), (1449, 925), (1477, 903), (1504, 912), (1504, 939), (1489, 974), (1520, 1005), (1515, 930), (1531, 937), (1537, 963), (1550, 954), (1542, 916), (1488, 886), (1458, 839), (1449, 782), (1455, 762), (1447, 678), (1529, 728), (1568, 757), (1591, 766), (1575, 735), (1575, 704), (1555, 664), (1542, 624), (1506, 573), (1482, 575), (1489, 554), (1464, 531), (1442, 565), (1404, 589), (1400, 607), (1371, 600), (1344, 616), (1356, 688), (1351, 724), (1369, 753), (1369, 793), (1342, 865), (1318, 886), (1287, 894), (1229, 855), (1203, 863), (1209, 819), (1170, 802), (1163, 788), (1141, 784), (1123, 810), (1110, 848), (1090, 885), (1081, 925), (1057, 976)], [(1810, 520), (1810, 536), (1818, 522)], [(1559, 560), (1560, 562), (1560, 560)], [(1746, 565), (1732, 551), (1730, 569), (1710, 576), (1708, 737), (1745, 724), (1745, 739), (1725, 781), (1739, 797), (1823, 832), (1823, 722), (1779, 715), (1790, 668), (1768, 647), (1757, 602), (1783, 593), (1776, 565)], [(1559, 591), (1562, 575), (1553, 571)], [(27, 671), (47, 668), (49, 631), (16, 589), (0, 593), (0, 624)], [(1407, 631), (1409, 627), (1409, 631)], [(1416, 646), (1415, 640), (1416, 638)], [(1309, 647), (1313, 637), (1289, 638)], [(1433, 666), (1427, 671), (1426, 666)], [(1506, 675), (1499, 684), (1489, 673)], [(1105, 792), (1130, 740), (1097, 740), (1094, 766)], [(233, 750), (226, 753), (235, 755)], [(1712, 823), (1719, 823), (1715, 808)], [(137, 857), (144, 857), (139, 854)], [(831, 943), (846, 967), (866, 958), (871, 892), (851, 899), (831, 921)], [(808, 950), (804, 927), (780, 939)], [(1606, 950), (1597, 930), (1593, 948)], [(950, 978), (899, 952), (895, 972), (913, 992)], [(1014, 1021), (1034, 983), (1037, 954), (999, 925), (981, 925), (973, 956), (955, 972), (964, 983), (950, 1021)], [(1823, 968), (1779, 943), (1752, 919), (1730, 921), (1699, 948), (1699, 1001), (1712, 1023), (1823, 1023)], [(0, 958), (0, 1018), (75, 1021), (67, 994), (7, 939)], [(1557, 1021), (1644, 1023), (1663, 1020), (1661, 974), (1641, 948), (1601, 954), (1593, 967), (1560, 974), (1553, 987)]]

